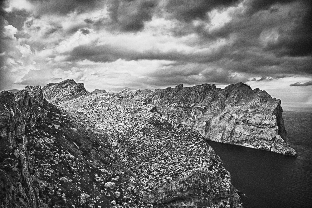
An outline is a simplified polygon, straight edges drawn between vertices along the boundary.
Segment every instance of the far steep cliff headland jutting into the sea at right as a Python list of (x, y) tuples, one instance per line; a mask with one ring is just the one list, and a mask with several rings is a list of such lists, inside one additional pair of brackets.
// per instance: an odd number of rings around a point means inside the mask
[(168, 122), (198, 130), (209, 140), (296, 155), (289, 147), (280, 100), (260, 89), (243, 83), (225, 89), (178, 85), (157, 89), (144, 101), (155, 105)]

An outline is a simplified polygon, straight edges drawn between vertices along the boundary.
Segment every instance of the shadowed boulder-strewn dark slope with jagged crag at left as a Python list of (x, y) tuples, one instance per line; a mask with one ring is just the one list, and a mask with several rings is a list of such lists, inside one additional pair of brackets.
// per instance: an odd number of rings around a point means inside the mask
[(49, 104), (40, 85), (1, 92), (0, 207), (150, 207), (107, 138), (85, 114)]

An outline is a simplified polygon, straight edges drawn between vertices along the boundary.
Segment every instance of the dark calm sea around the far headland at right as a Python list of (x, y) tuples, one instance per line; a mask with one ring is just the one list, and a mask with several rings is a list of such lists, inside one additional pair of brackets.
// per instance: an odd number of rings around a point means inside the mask
[(299, 157), (209, 142), (244, 194), (244, 208), (312, 207), (312, 105), (282, 104), (290, 146)]

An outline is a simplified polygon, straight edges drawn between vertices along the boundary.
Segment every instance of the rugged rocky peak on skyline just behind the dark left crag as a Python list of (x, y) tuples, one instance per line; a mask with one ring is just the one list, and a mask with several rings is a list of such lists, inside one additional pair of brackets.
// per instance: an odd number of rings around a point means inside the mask
[(85, 94), (89, 94), (85, 90), (83, 83), (76, 83), (74, 80), (64, 80), (60, 83), (50, 83), (42, 89), (44, 97), (53, 104), (64, 103), (68, 100), (75, 99)]

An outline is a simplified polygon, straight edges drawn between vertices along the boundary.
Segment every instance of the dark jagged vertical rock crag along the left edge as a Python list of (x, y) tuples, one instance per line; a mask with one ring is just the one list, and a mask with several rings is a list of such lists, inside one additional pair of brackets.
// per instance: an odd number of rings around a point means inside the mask
[(44, 122), (48, 109), (40, 85), (0, 93), (1, 207), (47, 207), (30, 172), (25, 131)]

